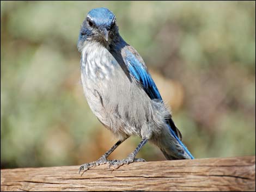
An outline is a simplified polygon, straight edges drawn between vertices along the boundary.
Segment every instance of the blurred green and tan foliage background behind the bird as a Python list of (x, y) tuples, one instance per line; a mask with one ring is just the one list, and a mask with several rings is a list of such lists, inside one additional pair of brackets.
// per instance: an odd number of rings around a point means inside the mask
[[(113, 11), (196, 158), (255, 154), (255, 2), (1, 1), (1, 168), (80, 165), (116, 141), (80, 82), (80, 25)], [(139, 138), (111, 158), (125, 158)], [(163, 160), (147, 144), (138, 157)]]

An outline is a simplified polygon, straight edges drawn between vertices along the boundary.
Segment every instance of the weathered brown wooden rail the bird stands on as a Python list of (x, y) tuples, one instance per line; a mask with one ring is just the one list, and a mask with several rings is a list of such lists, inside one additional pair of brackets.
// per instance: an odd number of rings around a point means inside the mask
[(1, 170), (1, 191), (255, 191), (255, 156)]

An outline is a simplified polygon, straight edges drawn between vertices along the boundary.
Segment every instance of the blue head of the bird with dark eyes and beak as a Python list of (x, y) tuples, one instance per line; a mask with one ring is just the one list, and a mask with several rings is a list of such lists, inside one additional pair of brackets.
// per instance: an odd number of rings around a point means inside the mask
[(77, 47), (81, 51), (87, 41), (98, 41), (108, 45), (118, 33), (114, 14), (106, 8), (89, 11), (81, 26)]

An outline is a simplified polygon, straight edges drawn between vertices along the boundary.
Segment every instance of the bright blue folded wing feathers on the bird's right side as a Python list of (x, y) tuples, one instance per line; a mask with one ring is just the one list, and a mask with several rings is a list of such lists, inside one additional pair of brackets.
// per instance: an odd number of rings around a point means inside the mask
[(151, 100), (157, 99), (162, 100), (159, 90), (156, 87), (156, 84), (147, 69), (143, 64), (136, 58), (136, 56), (131, 53), (129, 50), (125, 51), (126, 53), (126, 62), (127, 67), (133, 77), (135, 77), (138, 82), (141, 82), (141, 85), (147, 95)]

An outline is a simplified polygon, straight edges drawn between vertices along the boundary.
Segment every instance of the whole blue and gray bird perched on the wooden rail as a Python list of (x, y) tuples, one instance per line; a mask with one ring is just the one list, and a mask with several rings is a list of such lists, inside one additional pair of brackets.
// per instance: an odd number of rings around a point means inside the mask
[[(182, 143), (181, 133), (142, 57), (119, 34), (112, 11), (95, 8), (88, 12), (77, 48), (81, 52), (81, 82), (88, 105), (118, 138), (99, 159), (81, 165), (79, 172), (102, 164), (118, 168), (144, 162), (136, 155), (148, 141), (159, 147), (168, 160), (194, 159)], [(125, 159), (108, 160), (109, 154), (131, 135), (141, 138), (135, 150)]]

